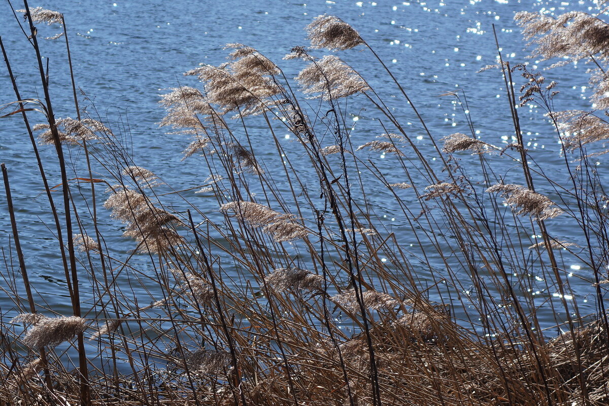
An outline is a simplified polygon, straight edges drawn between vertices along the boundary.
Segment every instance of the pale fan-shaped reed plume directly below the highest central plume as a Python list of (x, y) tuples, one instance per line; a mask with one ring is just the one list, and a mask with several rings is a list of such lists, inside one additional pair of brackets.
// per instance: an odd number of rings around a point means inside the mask
[(332, 100), (370, 90), (368, 84), (350, 66), (334, 55), (312, 61), (296, 77), (305, 94), (317, 94)]

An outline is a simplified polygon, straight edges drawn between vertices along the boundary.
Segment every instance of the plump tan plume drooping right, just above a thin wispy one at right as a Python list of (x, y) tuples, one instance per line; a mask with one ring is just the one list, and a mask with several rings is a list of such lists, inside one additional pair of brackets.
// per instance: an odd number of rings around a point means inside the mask
[(498, 184), (487, 189), (490, 193), (501, 193), (505, 204), (517, 208), (518, 215), (535, 216), (538, 220), (554, 218), (563, 213), (554, 202), (543, 194), (537, 193), (521, 185)]

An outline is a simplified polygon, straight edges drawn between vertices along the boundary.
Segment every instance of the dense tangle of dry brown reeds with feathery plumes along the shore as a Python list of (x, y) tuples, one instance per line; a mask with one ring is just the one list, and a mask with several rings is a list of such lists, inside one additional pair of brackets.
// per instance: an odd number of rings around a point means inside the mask
[[(557, 83), (499, 52), (487, 68), (507, 89), (515, 141), (504, 148), (476, 136), (460, 92), (445, 97), (462, 106), (471, 134), (429, 131), (375, 50), (336, 16), (314, 18), (310, 46), (284, 58), (303, 66), (294, 79), (252, 47), (228, 44), (227, 63), (185, 73), (199, 85), (161, 96), (160, 126), (190, 139), (184, 164), (209, 174), (175, 190), (79, 108), (74, 75), (76, 118), (55, 117), (41, 47), (65, 46), (71, 70), (66, 22), (24, 1), (43, 92), (19, 93), (2, 45), (16, 101), (0, 115), (21, 116), (32, 141), (72, 312), (35, 301), (2, 164), (13, 226), (4, 294), (15, 312), (0, 326), (0, 404), (609, 404), (609, 197), (594, 164), (609, 134), (603, 7), (516, 14), (536, 58), (590, 63), (593, 110), (554, 111)], [(47, 38), (54, 44), (41, 43), (37, 24), (60, 28)], [(429, 145), (340, 59), (350, 49), (382, 67)], [(518, 109), (527, 103), (561, 142), (562, 179), (546, 176), (547, 151), (527, 150)], [(359, 106), (381, 119), (369, 142), (352, 145)], [(261, 126), (274, 150), (249, 137)], [(57, 162), (38, 148), (54, 148)], [(370, 151), (390, 157), (389, 170)], [(78, 173), (68, 156), (79, 156)], [(498, 174), (497, 160), (516, 169)], [(373, 190), (403, 213), (414, 247), (378, 221)], [(108, 215), (122, 224), (122, 251), (98, 222)], [(566, 218), (577, 225), (569, 241), (553, 232)], [(596, 315), (569, 300), (572, 258), (591, 270)], [(539, 281), (560, 300), (537, 300)], [(548, 309), (558, 328), (544, 329), (538, 312)]]

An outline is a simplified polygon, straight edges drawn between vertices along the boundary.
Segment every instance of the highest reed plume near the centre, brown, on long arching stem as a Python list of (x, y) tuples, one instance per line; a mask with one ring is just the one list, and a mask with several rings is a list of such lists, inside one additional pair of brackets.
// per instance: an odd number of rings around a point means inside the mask
[(359, 33), (336, 16), (317, 16), (305, 30), (314, 48), (351, 49), (364, 44)]

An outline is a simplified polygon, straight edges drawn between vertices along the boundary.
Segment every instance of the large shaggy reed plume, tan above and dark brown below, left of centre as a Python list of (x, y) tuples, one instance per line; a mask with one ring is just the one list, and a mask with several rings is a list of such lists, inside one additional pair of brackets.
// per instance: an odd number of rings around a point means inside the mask
[(131, 188), (116, 185), (111, 192), (104, 207), (127, 225), (123, 235), (138, 241), (141, 252), (159, 253), (181, 243), (182, 238), (172, 228), (180, 222), (176, 216), (155, 207), (144, 194)]

